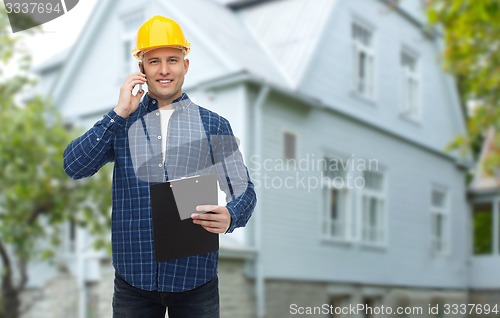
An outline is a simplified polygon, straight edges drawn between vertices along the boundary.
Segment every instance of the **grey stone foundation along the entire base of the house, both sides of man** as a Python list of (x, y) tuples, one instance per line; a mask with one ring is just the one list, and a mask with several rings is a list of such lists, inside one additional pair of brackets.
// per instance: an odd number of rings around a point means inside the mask
[[(254, 281), (245, 275), (245, 260), (221, 258), (219, 261), (219, 293), (222, 318), (256, 317)], [(100, 280), (87, 282), (86, 317), (111, 318), (114, 269), (109, 260), (100, 266)], [(22, 295), (22, 318), (80, 318), (79, 304), (82, 290), (69, 273), (60, 273), (45, 288), (27, 290)], [(266, 318), (289, 317), (432, 317), (433, 309), (444, 309), (445, 304), (498, 304), (500, 290), (468, 291), (426, 288), (384, 287), (349, 283), (311, 282), (268, 279), (265, 282)], [(335, 313), (335, 308), (365, 305), (370, 312)], [(377, 312), (386, 308), (385, 315)], [(406, 309), (406, 315), (392, 313), (387, 308)], [(499, 308), (500, 310), (500, 308)], [(484, 313), (477, 317), (485, 317)], [(490, 315), (488, 317), (493, 317)], [(500, 315), (496, 315), (499, 317)], [(475, 317), (474, 315), (448, 315), (448, 317)]]

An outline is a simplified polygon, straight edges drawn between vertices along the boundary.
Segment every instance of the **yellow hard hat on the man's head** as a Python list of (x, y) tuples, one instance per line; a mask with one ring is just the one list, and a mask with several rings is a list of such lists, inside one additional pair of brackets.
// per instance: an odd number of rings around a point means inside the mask
[(132, 54), (137, 59), (141, 59), (142, 52), (165, 46), (185, 49), (185, 55), (187, 55), (191, 43), (186, 40), (177, 22), (170, 18), (155, 15), (139, 27)]

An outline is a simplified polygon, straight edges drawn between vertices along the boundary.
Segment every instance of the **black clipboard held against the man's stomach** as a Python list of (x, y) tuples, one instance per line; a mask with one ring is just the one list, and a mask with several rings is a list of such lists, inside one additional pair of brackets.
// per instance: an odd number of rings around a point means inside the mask
[(150, 185), (150, 199), (158, 262), (219, 250), (219, 234), (194, 224), (190, 217), (197, 205), (217, 205), (217, 175)]

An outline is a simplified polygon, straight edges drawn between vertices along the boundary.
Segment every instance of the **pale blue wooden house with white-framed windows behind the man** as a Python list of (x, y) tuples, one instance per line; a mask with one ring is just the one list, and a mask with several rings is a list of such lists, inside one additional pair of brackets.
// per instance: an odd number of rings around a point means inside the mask
[[(443, 150), (464, 118), (422, 11), (419, 0), (103, 0), (38, 72), (67, 122), (88, 127), (137, 68), (138, 26), (174, 18), (192, 43), (185, 90), (229, 119), (259, 198), (250, 224), (221, 237), (223, 317), (442, 314), (467, 303), (476, 276), (468, 166)], [(85, 235), (65, 279), (76, 277), (80, 317), (106, 317), (112, 269)]]

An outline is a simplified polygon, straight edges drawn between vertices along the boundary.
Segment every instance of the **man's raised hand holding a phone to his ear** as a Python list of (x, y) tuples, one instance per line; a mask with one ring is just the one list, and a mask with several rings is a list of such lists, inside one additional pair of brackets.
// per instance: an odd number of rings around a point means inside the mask
[(135, 85), (143, 85), (145, 83), (146, 75), (143, 73), (132, 73), (127, 77), (120, 88), (120, 97), (118, 98), (118, 104), (114, 109), (118, 116), (127, 118), (130, 114), (136, 111), (139, 103), (141, 102), (142, 95), (144, 95), (144, 90), (141, 88), (136, 95), (132, 94), (132, 90)]

